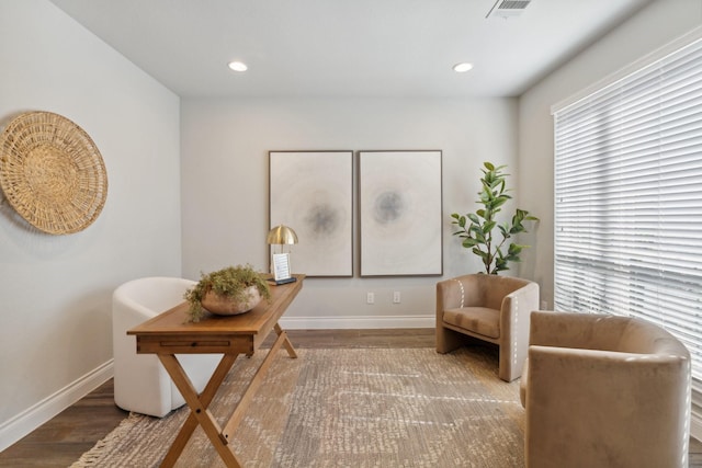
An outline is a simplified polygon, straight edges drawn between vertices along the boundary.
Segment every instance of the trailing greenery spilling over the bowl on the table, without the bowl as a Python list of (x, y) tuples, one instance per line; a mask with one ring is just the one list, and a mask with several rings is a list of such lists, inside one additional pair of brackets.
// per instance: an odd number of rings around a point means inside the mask
[(212, 273), (201, 273), (200, 282), (185, 292), (185, 300), (190, 303), (188, 313), (193, 322), (199, 322), (204, 315), (202, 300), (207, 293), (226, 297), (234, 301), (246, 301), (248, 288), (254, 286), (262, 298), (271, 298), (271, 289), (267, 281), (250, 264), (227, 266)]

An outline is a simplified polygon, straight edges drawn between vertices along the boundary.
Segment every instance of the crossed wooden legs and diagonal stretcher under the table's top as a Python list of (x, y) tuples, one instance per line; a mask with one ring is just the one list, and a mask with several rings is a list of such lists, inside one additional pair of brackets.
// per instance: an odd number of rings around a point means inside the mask
[(258, 388), (261, 386), (263, 377), (265, 376), (265, 373), (271, 366), (271, 363), (280, 347), (282, 345), (285, 345), (290, 357), (297, 357), (295, 349), (287, 339), (287, 333), (285, 333), (285, 331), (283, 331), (283, 329), (281, 329), (278, 323), (275, 324), (274, 330), (278, 334), (278, 339), (269, 350), (265, 358), (249, 383), (249, 386), (247, 387), (246, 391), (241, 396), (241, 399), (234, 409), (234, 412), (224, 430), (219, 426), (219, 424), (217, 424), (217, 421), (215, 420), (212, 412), (207, 409), (207, 407), (214, 399), (217, 390), (219, 389), (219, 386), (231, 369), (231, 366), (236, 362), (239, 354), (225, 354), (222, 357), (222, 361), (219, 361), (217, 368), (213, 373), (210, 381), (200, 396), (193, 387), (193, 384), (190, 381), (190, 378), (183, 370), (183, 367), (178, 362), (176, 355), (158, 354), (158, 357), (163, 364), (163, 367), (166, 367), (166, 370), (173, 379), (173, 383), (180, 390), (181, 395), (185, 399), (185, 402), (188, 403), (188, 407), (190, 408), (188, 420), (185, 420), (185, 422), (183, 423), (183, 426), (176, 436), (176, 441), (173, 441), (171, 448), (166, 454), (166, 457), (161, 463), (161, 467), (172, 467), (176, 465), (176, 460), (178, 460), (178, 457), (180, 457), (183, 448), (185, 448), (185, 445), (195, 431), (195, 427), (197, 427), (197, 424), (202, 426), (203, 431), (212, 442), (212, 445), (214, 445), (215, 449), (227, 467), (241, 467), (241, 464), (239, 463), (239, 460), (237, 460), (237, 457), (229, 447), (229, 441), (231, 440), (234, 432), (238, 427), (239, 423), (244, 420), (246, 410), (253, 400), (253, 397), (258, 391)]

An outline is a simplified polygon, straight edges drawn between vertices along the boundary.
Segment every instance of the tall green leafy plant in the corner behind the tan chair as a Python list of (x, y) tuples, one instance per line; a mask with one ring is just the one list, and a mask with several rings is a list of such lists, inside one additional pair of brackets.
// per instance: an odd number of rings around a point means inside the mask
[[(511, 198), (506, 187), (506, 178), (509, 174), (502, 172), (506, 165), (496, 167), (490, 162), (484, 162), (483, 165), (483, 189), (478, 192), (480, 198), (477, 201), (483, 208), (467, 215), (454, 213), (451, 215), (451, 224), (457, 226), (458, 230), (453, 235), (463, 239), (463, 247), (480, 258), (485, 273), (496, 275), (509, 270), (509, 262), (520, 261), (521, 251), (529, 246), (511, 242), (510, 239), (520, 232), (528, 232), (524, 221), (537, 221), (539, 218), (517, 208), (511, 222), (498, 224), (496, 215)], [(505, 247), (506, 252), (502, 250)]]

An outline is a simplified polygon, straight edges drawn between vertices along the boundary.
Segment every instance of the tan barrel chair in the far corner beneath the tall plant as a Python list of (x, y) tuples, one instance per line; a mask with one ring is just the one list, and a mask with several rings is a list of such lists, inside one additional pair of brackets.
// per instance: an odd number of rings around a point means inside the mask
[(499, 346), (499, 377), (522, 374), (529, 317), (539, 309), (539, 284), (509, 276), (469, 274), (437, 283), (437, 352), (472, 339)]

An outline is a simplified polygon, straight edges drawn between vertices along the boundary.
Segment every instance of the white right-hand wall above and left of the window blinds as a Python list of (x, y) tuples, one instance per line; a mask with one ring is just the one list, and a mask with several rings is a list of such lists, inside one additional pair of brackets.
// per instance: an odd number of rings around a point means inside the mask
[(702, 1), (657, 0), (550, 75), (519, 100), (519, 197), (541, 218), (522, 265), (553, 307), (553, 118), (551, 106), (702, 25)]

